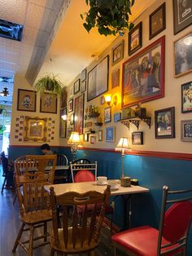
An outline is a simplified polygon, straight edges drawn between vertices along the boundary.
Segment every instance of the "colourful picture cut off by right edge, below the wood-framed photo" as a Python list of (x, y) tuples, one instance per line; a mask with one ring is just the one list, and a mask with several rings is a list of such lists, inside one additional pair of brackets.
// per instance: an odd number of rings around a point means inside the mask
[(181, 113), (192, 112), (192, 81), (181, 85)]

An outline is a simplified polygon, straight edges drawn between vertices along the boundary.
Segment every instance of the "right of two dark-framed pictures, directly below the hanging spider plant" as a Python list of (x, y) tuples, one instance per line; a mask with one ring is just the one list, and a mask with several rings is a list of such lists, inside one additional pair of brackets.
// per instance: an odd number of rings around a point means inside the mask
[(57, 113), (57, 95), (43, 93), (40, 101), (41, 113)]

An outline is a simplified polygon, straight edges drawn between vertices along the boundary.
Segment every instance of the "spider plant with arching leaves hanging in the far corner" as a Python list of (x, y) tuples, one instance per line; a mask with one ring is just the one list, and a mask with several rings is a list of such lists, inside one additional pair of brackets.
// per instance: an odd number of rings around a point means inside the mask
[(49, 91), (52, 95), (57, 94), (61, 95), (64, 84), (60, 81), (58, 75), (53, 73), (47, 74), (45, 77), (41, 77), (35, 82), (33, 87), (40, 93), (43, 94), (45, 91)]

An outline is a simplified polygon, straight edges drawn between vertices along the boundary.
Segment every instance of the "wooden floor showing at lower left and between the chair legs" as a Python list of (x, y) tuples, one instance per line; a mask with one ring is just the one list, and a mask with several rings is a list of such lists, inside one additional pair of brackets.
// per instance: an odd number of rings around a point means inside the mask
[[(2, 167), (0, 166), (0, 188), (2, 188), (2, 182)], [(0, 256), (26, 256), (24, 249), (22, 249), (20, 245), (16, 249), (15, 254), (12, 253), (12, 247), (21, 226), (20, 210), (17, 200), (15, 201), (15, 205), (13, 205), (14, 196), (15, 191), (11, 191), (11, 189), (4, 189), (3, 194), (0, 194)], [(51, 223), (49, 228), (51, 228)], [(100, 244), (94, 252), (95, 256), (113, 255), (110, 235), (111, 232), (106, 228), (103, 228)], [(50, 245), (46, 245), (33, 250), (34, 256), (44, 256), (49, 254)], [(81, 254), (81, 256), (83, 255), (87, 254)], [(119, 252), (118, 255), (123, 254)]]

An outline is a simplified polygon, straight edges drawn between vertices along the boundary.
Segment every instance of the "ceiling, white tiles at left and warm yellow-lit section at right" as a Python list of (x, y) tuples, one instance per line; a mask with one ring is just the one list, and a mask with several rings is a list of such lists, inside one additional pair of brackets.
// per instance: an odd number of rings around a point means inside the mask
[[(135, 1), (132, 19), (153, 2)], [(0, 77), (21, 73), (33, 84), (41, 68), (38, 77), (59, 74), (68, 85), (93, 61), (92, 54), (99, 55), (115, 40), (97, 29), (85, 31), (80, 14), (87, 9), (85, 0), (1, 0), (0, 19), (24, 24), (24, 34), (21, 42), (0, 38)], [(4, 87), (10, 95), (0, 96), (0, 104), (12, 97), (12, 84), (0, 82), (0, 91)]]

